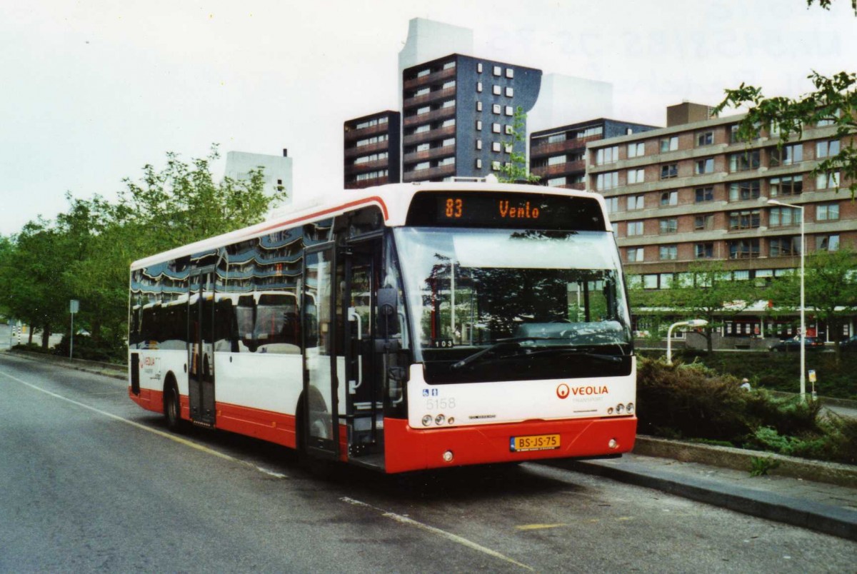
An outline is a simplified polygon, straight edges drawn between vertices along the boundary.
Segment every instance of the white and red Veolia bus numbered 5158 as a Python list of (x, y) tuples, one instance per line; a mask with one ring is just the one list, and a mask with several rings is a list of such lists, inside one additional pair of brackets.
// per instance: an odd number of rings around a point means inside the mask
[(598, 194), (392, 184), (135, 261), (129, 397), (386, 473), (618, 456), (637, 430)]

